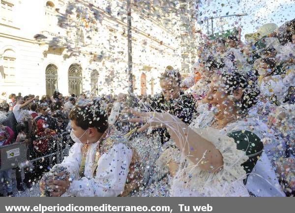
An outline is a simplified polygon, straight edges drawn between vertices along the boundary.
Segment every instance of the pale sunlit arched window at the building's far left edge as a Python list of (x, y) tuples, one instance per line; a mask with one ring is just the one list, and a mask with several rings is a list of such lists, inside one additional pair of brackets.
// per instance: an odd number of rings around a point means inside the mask
[(4, 82), (15, 83), (15, 62), (16, 56), (13, 50), (5, 50), (3, 54), (3, 74)]

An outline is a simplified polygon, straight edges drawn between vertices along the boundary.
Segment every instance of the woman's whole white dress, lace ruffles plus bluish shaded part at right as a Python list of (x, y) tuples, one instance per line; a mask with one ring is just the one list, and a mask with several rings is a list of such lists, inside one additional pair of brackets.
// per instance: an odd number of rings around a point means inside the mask
[[(208, 141), (211, 141), (221, 152), (224, 167), (222, 171), (212, 174), (201, 171), (196, 165), (189, 162), (188, 168), (180, 171), (173, 180), (171, 195), (247, 196), (249, 190), (256, 196), (285, 196), (264, 152), (249, 175), (246, 186), (242, 182), (246, 172), (241, 164), (248, 157), (245, 152), (236, 149), (234, 139), (229, 138), (227, 134), (237, 130), (249, 130), (254, 132), (258, 137), (263, 137), (263, 131), (259, 131), (260, 128), (255, 128), (255, 122), (251, 122), (250, 120), (251, 118), (247, 122), (240, 121), (229, 124), (220, 131), (210, 127), (203, 130), (194, 129), (191, 125), (191, 128)], [(193, 123), (197, 126), (199, 125), (198, 121)], [(204, 126), (204, 124), (202, 125)]]

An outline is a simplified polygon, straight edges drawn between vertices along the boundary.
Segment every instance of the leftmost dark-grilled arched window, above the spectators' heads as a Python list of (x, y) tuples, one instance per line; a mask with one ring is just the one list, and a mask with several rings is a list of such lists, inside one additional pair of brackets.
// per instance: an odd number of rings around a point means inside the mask
[(52, 96), (54, 91), (58, 89), (58, 67), (49, 64), (45, 70), (46, 75), (46, 94)]

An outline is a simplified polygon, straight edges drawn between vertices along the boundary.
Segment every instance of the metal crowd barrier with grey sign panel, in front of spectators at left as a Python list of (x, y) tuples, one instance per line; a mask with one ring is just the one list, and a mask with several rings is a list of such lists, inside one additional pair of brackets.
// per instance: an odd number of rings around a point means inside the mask
[[(62, 142), (65, 135), (69, 135), (69, 132), (63, 132), (59, 135), (51, 136), (51, 140), (56, 140), (56, 152), (31, 159), (29, 161), (34, 162), (49, 157), (50, 164), (52, 164), (53, 156), (55, 155), (57, 163), (60, 163), (64, 158), (64, 149), (62, 149)], [(35, 141), (47, 139), (48, 137), (49, 136), (36, 138)], [(0, 172), (8, 169), (13, 169), (19, 164), (26, 162), (28, 160), (27, 148), (28, 145), (25, 141), (0, 147)]]

